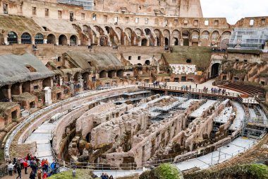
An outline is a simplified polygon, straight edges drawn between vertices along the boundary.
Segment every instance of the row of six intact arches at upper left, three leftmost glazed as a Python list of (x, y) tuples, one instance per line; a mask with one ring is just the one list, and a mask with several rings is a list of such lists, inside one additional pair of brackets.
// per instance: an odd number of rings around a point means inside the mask
[[(23, 33), (20, 36), (22, 44), (32, 44), (32, 36), (29, 33)], [(11, 31), (8, 32), (7, 42), (9, 45), (18, 43), (17, 33)], [(44, 35), (42, 33), (37, 33), (35, 35), (35, 44), (44, 44)], [(47, 35), (47, 44), (56, 44), (56, 36), (54, 34)], [(68, 40), (66, 35), (59, 35), (59, 45), (68, 45)], [(78, 37), (76, 35), (71, 35), (69, 45), (78, 45)]]

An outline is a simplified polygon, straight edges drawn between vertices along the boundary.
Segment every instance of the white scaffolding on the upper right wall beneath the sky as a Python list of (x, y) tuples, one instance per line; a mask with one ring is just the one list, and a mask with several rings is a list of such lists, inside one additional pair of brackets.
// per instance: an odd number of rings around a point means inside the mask
[(268, 28), (234, 28), (229, 40), (229, 48), (237, 45), (242, 49), (264, 49), (268, 40)]

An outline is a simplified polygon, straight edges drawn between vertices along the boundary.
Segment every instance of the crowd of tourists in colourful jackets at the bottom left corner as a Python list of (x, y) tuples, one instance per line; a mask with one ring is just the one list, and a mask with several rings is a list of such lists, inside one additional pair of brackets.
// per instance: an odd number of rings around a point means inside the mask
[(25, 175), (30, 171), (30, 179), (48, 178), (57, 173), (59, 166), (55, 161), (49, 163), (46, 159), (39, 160), (36, 156), (28, 154), (25, 158), (13, 158), (13, 161), (8, 162), (8, 174), (13, 175), (18, 173), (16, 178), (22, 178), (21, 172), (24, 170)]

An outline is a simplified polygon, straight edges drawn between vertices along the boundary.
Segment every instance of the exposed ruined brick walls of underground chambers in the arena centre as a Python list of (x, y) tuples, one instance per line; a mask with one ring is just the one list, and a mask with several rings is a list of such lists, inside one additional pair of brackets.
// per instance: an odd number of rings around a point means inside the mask
[[(173, 106), (169, 115), (155, 120), (159, 108), (164, 110), (166, 106)], [(217, 149), (230, 141), (235, 110), (229, 100), (159, 95), (140, 100), (137, 105), (99, 103), (84, 109), (72, 122), (75, 133), (65, 155), (74, 162), (107, 163), (108, 168), (121, 169), (141, 168), (159, 159), (180, 160), (197, 150)], [(215, 121), (221, 115), (226, 116), (224, 122)]]

